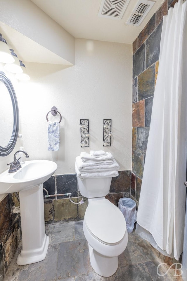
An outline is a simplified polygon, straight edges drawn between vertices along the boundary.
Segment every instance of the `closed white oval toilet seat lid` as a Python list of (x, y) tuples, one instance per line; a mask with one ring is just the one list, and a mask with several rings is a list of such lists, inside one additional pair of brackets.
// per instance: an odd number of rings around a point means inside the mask
[(93, 236), (104, 244), (117, 244), (124, 237), (124, 215), (108, 199), (90, 201), (84, 220)]

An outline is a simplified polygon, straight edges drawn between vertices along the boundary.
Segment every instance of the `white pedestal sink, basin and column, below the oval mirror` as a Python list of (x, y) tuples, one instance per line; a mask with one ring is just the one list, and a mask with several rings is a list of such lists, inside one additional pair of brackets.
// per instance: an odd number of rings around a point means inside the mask
[(25, 161), (17, 172), (0, 174), (0, 194), (19, 192), (22, 250), (16, 263), (25, 265), (44, 260), (49, 246), (45, 234), (43, 182), (56, 171), (53, 161)]

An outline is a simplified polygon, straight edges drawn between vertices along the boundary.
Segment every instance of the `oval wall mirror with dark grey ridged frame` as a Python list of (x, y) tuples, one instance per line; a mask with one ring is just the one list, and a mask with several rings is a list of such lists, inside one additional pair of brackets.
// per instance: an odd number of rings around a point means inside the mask
[(6, 74), (0, 71), (0, 156), (14, 149), (19, 130), (19, 109), (15, 91)]

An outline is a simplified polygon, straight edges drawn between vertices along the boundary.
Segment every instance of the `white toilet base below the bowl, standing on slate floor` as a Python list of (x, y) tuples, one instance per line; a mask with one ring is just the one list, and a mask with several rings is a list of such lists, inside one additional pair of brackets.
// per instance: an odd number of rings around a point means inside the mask
[(103, 277), (112, 276), (118, 268), (118, 257), (106, 257), (96, 252), (88, 243), (90, 263), (93, 270)]

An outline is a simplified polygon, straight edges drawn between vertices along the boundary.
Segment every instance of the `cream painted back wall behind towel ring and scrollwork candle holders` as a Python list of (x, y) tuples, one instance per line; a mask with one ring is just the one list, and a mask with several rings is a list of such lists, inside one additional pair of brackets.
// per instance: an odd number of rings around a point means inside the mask
[[(30, 81), (13, 80), (20, 111), (20, 133), (13, 153), (24, 146), (30, 160), (57, 163), (56, 174), (74, 173), (75, 157), (82, 151), (110, 151), (120, 170), (131, 169), (132, 46), (75, 40), (75, 66), (26, 63)], [(47, 150), (46, 114), (56, 106), (60, 123), (60, 150)], [(49, 120), (57, 120), (58, 116)], [(80, 147), (80, 119), (89, 119), (90, 147)], [(112, 119), (112, 146), (103, 147), (103, 119)], [(13, 160), (0, 157), (0, 172)]]

